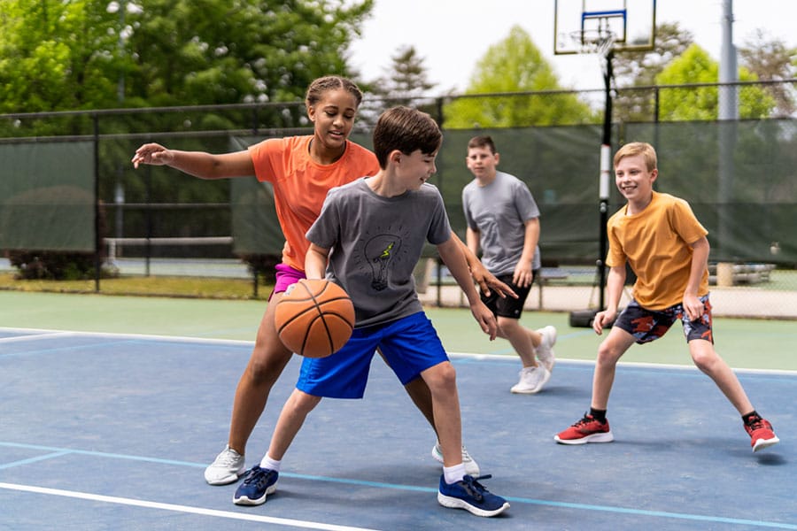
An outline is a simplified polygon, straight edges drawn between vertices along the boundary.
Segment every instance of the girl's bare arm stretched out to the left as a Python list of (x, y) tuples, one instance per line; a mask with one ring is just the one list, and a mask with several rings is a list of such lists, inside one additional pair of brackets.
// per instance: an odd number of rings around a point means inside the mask
[(151, 142), (135, 150), (133, 167), (140, 164), (167, 165), (200, 179), (224, 179), (254, 175), (249, 151), (213, 155), (205, 151), (169, 150)]

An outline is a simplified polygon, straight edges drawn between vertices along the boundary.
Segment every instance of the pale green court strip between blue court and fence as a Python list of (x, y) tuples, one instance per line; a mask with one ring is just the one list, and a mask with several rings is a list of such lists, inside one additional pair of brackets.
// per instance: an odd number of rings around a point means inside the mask
[[(254, 341), (263, 301), (0, 292), (0, 327), (80, 332), (174, 335)], [(427, 307), (451, 353), (515, 356), (507, 341), (490, 342), (468, 310)], [(569, 327), (568, 313), (524, 312), (527, 327), (553, 325), (557, 358), (593, 360), (600, 337), (589, 328)], [(797, 322), (715, 319), (716, 349), (731, 367), (797, 370), (791, 345)], [(691, 365), (680, 325), (659, 341), (631, 348), (624, 362)]]

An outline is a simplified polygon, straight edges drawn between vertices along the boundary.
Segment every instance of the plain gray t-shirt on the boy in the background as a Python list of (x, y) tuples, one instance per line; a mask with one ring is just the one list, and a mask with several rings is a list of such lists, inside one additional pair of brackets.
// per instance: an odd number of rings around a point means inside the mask
[[(481, 233), (482, 263), (498, 276), (515, 272), (526, 238), (525, 223), (539, 218), (539, 209), (529, 187), (509, 173), (496, 172), (487, 186), (470, 181), (462, 189), (462, 207), (468, 227)], [(539, 269), (539, 246), (534, 250), (532, 269)]]

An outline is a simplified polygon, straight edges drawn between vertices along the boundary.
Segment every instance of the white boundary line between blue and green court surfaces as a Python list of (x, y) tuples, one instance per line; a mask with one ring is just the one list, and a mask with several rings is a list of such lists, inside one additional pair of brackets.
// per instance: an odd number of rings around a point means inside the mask
[[(158, 335), (158, 334), (132, 334), (132, 333), (118, 333), (118, 332), (86, 332), (81, 330), (57, 330), (49, 328), (27, 328), (27, 327), (0, 327), (0, 332), (20, 332), (25, 334), (63, 334), (70, 336), (86, 335), (89, 337), (112, 337), (118, 339), (128, 340), (153, 340), (164, 342), (189, 342), (189, 343), (205, 343), (205, 344), (219, 344), (229, 346), (245, 346), (253, 347), (255, 342), (242, 339), (219, 339), (213, 337), (194, 337), (190, 335)], [(8, 338), (0, 338), (0, 341)], [(47, 339), (43, 337), (43, 339)], [(508, 354), (482, 354), (478, 352), (447, 352), (448, 357), (451, 359), (472, 359), (472, 360), (488, 360), (488, 361), (516, 361), (518, 358)], [(594, 366), (595, 361), (591, 359), (572, 359), (572, 358), (556, 358), (557, 363), (565, 363), (568, 365), (584, 365)], [(652, 368), (652, 369), (675, 369), (675, 370), (695, 370), (699, 369), (690, 364), (666, 364), (666, 363), (653, 363), (643, 361), (619, 361), (618, 366), (639, 367), (639, 368)], [(791, 369), (754, 369), (754, 368), (736, 368), (731, 366), (734, 373), (739, 374), (775, 374), (784, 376), (797, 376), (797, 370)]]

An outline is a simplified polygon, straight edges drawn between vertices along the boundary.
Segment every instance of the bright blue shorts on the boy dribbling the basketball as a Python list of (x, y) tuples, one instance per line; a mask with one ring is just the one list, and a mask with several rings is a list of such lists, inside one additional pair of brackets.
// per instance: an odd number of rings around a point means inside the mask
[(386, 325), (355, 328), (352, 338), (332, 356), (304, 358), (296, 389), (313, 396), (362, 398), (377, 348), (403, 385), (448, 361), (431, 321), (417, 312)]

